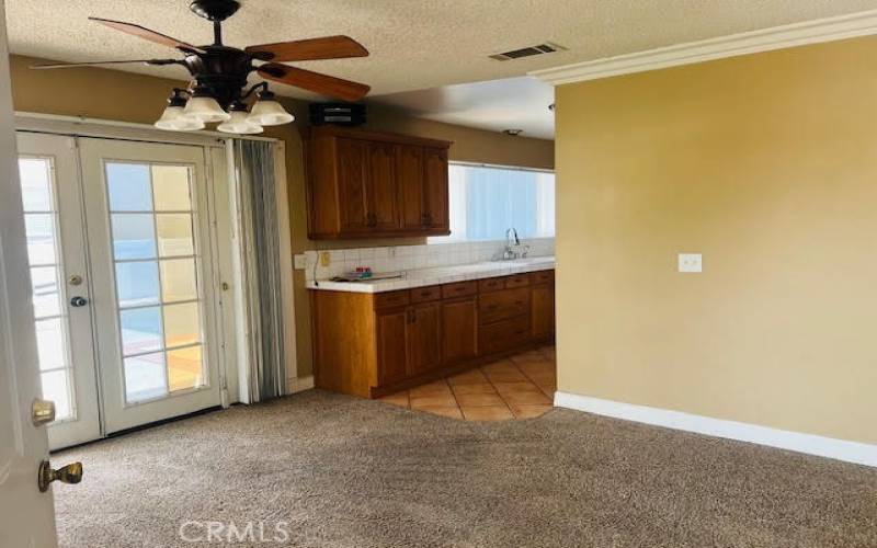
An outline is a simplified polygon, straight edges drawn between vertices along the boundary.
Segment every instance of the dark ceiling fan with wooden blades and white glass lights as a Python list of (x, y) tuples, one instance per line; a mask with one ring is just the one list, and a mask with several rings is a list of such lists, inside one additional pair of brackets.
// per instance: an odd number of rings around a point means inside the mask
[[(267, 89), (267, 82), (259, 82), (247, 89), (247, 78), (250, 72), (257, 72), (266, 80), (344, 101), (358, 101), (371, 89), (363, 83), (283, 65), (285, 61), (366, 57), (368, 50), (353, 38), (324, 36), (260, 44), (238, 49), (223, 44), (223, 21), (240, 9), (239, 1), (194, 0), (190, 4), (190, 9), (195, 14), (213, 22), (213, 44), (193, 46), (134, 23), (89, 18), (110, 28), (175, 48), (183, 54), (181, 59), (66, 62), (35, 65), (31, 68), (56, 69), (127, 62), (143, 62), (152, 66), (181, 65), (189, 70), (192, 81), (189, 89), (173, 90), (168, 100), (168, 106), (161, 118), (156, 122), (156, 126), (162, 129), (183, 132), (202, 129), (205, 123), (220, 122), (217, 129), (221, 132), (254, 134), (261, 133), (262, 126), (292, 122), (293, 115), (287, 113), (275, 100), (274, 93)], [(248, 113), (244, 101), (253, 93), (255, 93), (257, 100)]]

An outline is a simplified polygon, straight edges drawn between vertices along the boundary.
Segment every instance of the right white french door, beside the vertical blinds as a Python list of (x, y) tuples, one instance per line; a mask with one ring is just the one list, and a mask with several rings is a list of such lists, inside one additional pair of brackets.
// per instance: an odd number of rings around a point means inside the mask
[(203, 147), (80, 139), (106, 433), (218, 406)]

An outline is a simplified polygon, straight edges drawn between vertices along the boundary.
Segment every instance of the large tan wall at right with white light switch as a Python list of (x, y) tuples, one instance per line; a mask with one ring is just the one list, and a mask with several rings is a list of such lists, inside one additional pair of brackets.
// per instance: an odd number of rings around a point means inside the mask
[(560, 390), (877, 443), (875, 67), (867, 37), (557, 90)]

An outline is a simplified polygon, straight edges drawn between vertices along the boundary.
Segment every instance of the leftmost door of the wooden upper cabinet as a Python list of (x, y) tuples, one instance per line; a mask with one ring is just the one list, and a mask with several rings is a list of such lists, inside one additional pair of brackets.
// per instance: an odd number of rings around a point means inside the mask
[(335, 146), (341, 230), (368, 230), (368, 144), (338, 139)]

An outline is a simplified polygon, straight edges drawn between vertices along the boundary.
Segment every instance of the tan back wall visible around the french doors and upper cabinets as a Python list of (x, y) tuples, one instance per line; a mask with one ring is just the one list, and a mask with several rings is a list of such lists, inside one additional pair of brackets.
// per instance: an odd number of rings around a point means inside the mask
[[(12, 56), (12, 92), (15, 110), (88, 116), (122, 122), (151, 124), (164, 107), (170, 89), (183, 82), (133, 75), (99, 68), (62, 70), (31, 70), (27, 67), (44, 59)], [(309, 249), (356, 248), (419, 243), (418, 239), (311, 241), (307, 238), (304, 163), (299, 128), (307, 125), (307, 104), (283, 100), (297, 121), (266, 132), (266, 136), (283, 139), (286, 145), (286, 174), (292, 214), (292, 246), (294, 253)], [(409, 118), (387, 109), (369, 110), (368, 128), (453, 140), (452, 160), (551, 168), (554, 142), (509, 137), (436, 122)], [(311, 374), (310, 307), (305, 289), (305, 275), (295, 272), (296, 333), (298, 376)]]

